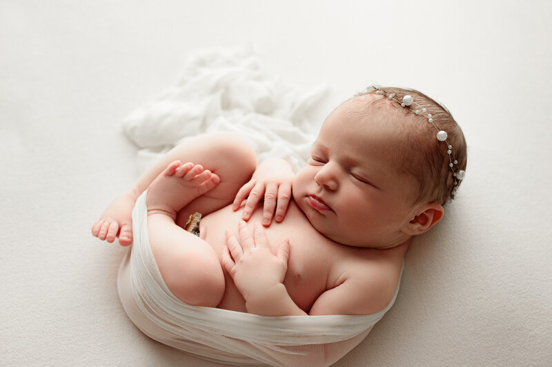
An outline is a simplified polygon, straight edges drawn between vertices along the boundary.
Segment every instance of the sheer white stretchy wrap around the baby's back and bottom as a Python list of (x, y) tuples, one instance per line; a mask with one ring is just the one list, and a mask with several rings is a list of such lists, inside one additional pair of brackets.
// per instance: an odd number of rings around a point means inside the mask
[(398, 285), (384, 310), (361, 316), (264, 317), (185, 304), (166, 286), (150, 249), (146, 192), (132, 211), (134, 242), (119, 267), (117, 288), (132, 322), (163, 344), (240, 366), (329, 366), (357, 346), (395, 302)]

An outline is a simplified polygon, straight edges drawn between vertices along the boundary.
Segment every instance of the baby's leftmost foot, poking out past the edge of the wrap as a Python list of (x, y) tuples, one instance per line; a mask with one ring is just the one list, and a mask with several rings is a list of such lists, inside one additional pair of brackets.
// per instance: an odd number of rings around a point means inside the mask
[(92, 235), (107, 242), (119, 237), (121, 246), (132, 243), (132, 208), (136, 200), (130, 193), (119, 196), (107, 207), (99, 220), (92, 226)]

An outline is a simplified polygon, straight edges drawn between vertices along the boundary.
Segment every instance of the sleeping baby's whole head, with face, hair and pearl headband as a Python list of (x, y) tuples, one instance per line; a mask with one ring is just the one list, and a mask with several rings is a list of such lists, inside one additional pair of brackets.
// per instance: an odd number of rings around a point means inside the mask
[(465, 169), (464, 135), (444, 107), (371, 87), (326, 118), (293, 196), (326, 237), (384, 249), (439, 222)]

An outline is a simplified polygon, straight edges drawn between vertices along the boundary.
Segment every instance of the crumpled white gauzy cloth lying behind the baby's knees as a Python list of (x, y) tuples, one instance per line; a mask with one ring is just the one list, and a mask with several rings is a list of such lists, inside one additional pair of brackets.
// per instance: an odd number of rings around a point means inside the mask
[(319, 123), (309, 114), (328, 91), (302, 93), (268, 78), (250, 46), (215, 48), (190, 57), (177, 83), (123, 121), (139, 148), (139, 170), (186, 138), (230, 131), (249, 140), (260, 161), (279, 157), (297, 171), (308, 158)]

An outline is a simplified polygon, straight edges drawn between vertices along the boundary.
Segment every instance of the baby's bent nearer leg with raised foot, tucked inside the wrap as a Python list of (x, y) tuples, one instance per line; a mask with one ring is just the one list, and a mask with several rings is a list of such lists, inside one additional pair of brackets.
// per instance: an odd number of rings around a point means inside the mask
[(175, 224), (178, 211), (213, 189), (218, 176), (200, 165), (170, 163), (148, 187), (148, 238), (161, 276), (180, 300), (215, 307), (224, 295), (224, 275), (210, 245)]

